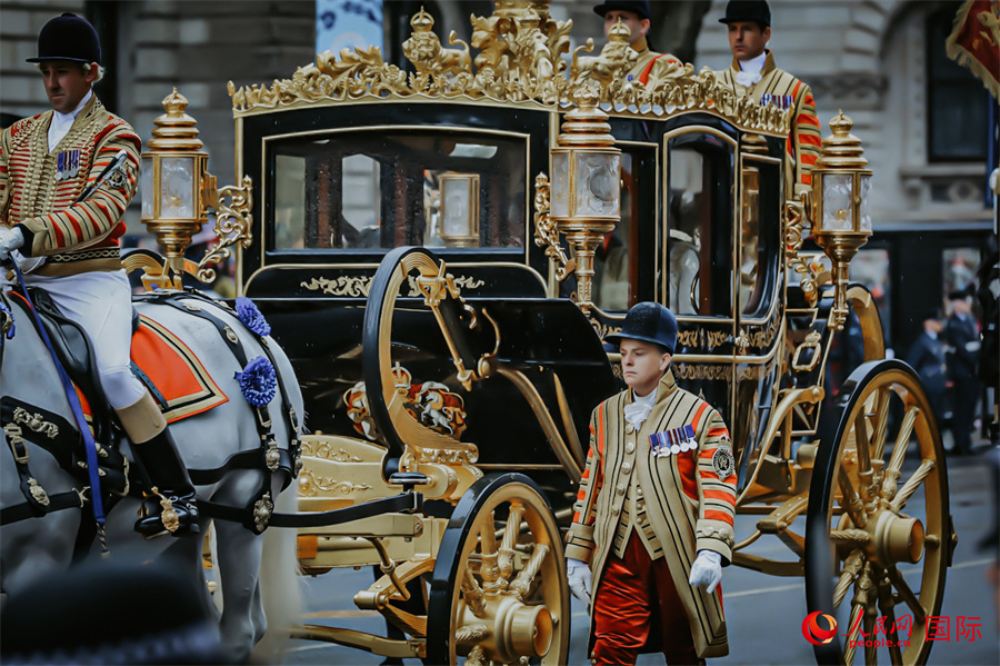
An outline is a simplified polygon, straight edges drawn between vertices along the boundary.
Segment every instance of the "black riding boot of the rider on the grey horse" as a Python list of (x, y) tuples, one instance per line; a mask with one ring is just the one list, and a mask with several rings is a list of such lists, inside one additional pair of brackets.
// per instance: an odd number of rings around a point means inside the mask
[(146, 468), (152, 494), (150, 501), (157, 504), (149, 515), (139, 518), (136, 531), (144, 537), (200, 531), (194, 486), (177, 453), (170, 428), (164, 428), (149, 441), (133, 443), (132, 450)]

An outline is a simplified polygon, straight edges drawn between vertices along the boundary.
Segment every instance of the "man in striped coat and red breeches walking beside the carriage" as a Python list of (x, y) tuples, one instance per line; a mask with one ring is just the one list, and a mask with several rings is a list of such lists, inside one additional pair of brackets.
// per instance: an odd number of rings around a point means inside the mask
[(591, 606), (593, 664), (669, 664), (729, 654), (722, 566), (732, 557), (736, 464), (729, 431), (677, 386), (677, 320), (656, 302), (626, 316), (628, 389), (590, 421), (590, 450), (567, 535), (570, 589)]

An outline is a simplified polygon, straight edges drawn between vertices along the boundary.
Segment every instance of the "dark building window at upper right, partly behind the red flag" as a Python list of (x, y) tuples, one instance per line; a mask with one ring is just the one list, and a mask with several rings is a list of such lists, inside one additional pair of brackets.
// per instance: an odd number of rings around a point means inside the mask
[(961, 2), (947, 2), (927, 18), (928, 161), (981, 161), (987, 152), (987, 90), (949, 59), (944, 40)]

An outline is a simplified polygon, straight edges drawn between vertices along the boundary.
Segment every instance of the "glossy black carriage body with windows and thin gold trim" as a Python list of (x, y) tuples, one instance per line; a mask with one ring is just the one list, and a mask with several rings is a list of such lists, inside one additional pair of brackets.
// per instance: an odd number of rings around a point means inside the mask
[[(758, 135), (752, 152), (743, 150), (744, 133), (707, 112), (612, 116), (622, 222), (603, 257), (599, 250), (598, 307), (584, 315), (570, 299), (574, 278), (558, 282), (534, 239), (533, 182), (551, 173), (563, 117), (533, 102), (390, 100), (238, 115), (239, 176), (251, 178), (257, 202), (238, 281), (289, 352), (310, 429), (359, 436), (343, 397), (362, 380), (371, 278), (391, 248), (423, 245), (447, 264), (462, 298), (497, 319), (498, 359), (530, 379), (552, 415), (560, 414), (561, 382), (584, 453), (593, 407), (623, 388), (616, 350), (602, 338), (641, 300), (678, 315), (680, 385), (720, 410), (736, 441), (756, 444), (767, 418), (748, 410), (770, 402), (783, 362), (783, 141)], [(364, 181), (348, 175), (359, 165)], [(449, 201), (443, 212), (430, 202), (447, 197), (452, 177), (474, 190), (462, 190), (478, 203), (474, 238), (448, 237)], [(749, 203), (746, 188), (754, 190)], [(619, 281), (611, 284), (616, 249)], [(461, 390), (433, 316), (416, 307), (412, 285), (399, 296), (393, 357), (414, 384), (443, 381), (462, 395), (462, 439), (479, 447), (477, 465), (523, 470), (570, 497), (524, 397), (498, 378)], [(479, 351), (487, 352), (493, 337), (482, 330)]]

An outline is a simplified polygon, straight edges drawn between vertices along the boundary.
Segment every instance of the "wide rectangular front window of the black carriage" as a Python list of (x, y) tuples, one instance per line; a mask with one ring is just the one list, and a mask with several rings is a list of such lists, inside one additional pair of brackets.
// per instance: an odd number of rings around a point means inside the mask
[(270, 155), (277, 250), (524, 247), (524, 139), (361, 130)]

